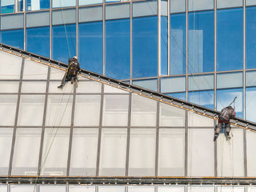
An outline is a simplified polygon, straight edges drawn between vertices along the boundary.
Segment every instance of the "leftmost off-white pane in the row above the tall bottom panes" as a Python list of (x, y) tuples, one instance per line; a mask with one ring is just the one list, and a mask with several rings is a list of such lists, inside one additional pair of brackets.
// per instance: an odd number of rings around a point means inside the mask
[(0, 126), (14, 126), (17, 95), (0, 95)]

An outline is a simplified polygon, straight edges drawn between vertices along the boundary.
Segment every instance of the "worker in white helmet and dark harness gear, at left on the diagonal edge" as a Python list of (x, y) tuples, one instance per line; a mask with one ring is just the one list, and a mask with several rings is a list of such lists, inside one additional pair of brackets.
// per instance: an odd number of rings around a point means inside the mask
[(78, 73), (80, 72), (80, 64), (78, 63), (78, 58), (75, 56), (73, 58), (69, 58), (69, 66), (64, 74), (63, 79), (61, 80), (61, 85), (58, 88), (63, 88), (65, 83), (71, 81), (78, 82)]

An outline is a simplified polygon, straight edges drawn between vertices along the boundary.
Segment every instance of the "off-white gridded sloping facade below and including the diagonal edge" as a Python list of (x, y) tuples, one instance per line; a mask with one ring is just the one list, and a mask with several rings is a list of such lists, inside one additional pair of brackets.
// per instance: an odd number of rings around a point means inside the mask
[(241, 128), (255, 123), (236, 118), (238, 145), (214, 145), (217, 111), (84, 69), (60, 90), (66, 64), (0, 46), (1, 175), (245, 176)]

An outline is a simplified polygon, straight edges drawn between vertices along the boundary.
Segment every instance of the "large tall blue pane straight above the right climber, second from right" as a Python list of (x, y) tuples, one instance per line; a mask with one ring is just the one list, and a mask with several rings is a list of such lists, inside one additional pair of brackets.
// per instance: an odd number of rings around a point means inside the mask
[(243, 69), (243, 9), (217, 10), (217, 71)]

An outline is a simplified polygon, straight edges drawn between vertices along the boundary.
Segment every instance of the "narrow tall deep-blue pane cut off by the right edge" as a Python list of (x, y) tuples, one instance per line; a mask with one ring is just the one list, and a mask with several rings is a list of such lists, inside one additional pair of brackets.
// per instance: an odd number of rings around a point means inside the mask
[(246, 69), (256, 68), (256, 7), (246, 7)]

